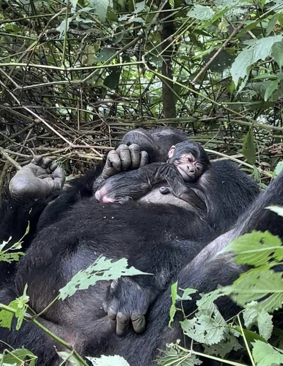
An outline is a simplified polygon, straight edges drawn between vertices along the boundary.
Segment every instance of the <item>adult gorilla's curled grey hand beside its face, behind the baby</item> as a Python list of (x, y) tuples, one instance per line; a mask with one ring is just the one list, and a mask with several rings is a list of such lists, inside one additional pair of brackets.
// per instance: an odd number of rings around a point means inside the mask
[(102, 171), (102, 178), (107, 179), (127, 169), (137, 169), (147, 163), (148, 153), (146, 151), (140, 151), (136, 143), (130, 146), (123, 143), (116, 150), (109, 151)]

